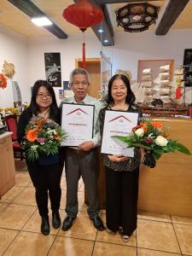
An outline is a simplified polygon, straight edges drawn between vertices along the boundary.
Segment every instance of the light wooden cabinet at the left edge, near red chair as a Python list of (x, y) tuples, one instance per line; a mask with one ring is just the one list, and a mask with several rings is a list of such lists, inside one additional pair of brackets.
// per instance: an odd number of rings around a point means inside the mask
[(11, 132), (0, 135), (0, 198), (15, 185), (15, 161)]

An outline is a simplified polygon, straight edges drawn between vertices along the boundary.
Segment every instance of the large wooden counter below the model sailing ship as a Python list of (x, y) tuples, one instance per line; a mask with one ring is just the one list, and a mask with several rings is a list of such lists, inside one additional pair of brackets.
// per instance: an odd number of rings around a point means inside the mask
[[(157, 119), (155, 119), (157, 120)], [(177, 139), (192, 152), (192, 119), (158, 118), (166, 125), (169, 137)], [(100, 160), (99, 196), (105, 205), (104, 166)], [(86, 201), (86, 196), (85, 196)], [(163, 154), (156, 166), (141, 166), (138, 209), (192, 217), (192, 156)]]

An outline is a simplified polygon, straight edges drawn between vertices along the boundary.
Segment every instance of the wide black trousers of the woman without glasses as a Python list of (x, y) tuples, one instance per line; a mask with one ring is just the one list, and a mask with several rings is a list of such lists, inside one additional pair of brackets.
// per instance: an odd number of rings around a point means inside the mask
[(106, 221), (109, 230), (123, 228), (131, 236), (137, 229), (139, 168), (134, 172), (115, 172), (106, 168)]

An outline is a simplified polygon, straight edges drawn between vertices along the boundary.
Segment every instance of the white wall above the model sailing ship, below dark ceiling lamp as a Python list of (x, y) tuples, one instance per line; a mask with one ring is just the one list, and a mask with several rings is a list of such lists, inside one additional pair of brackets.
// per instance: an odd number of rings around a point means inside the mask
[(113, 73), (121, 68), (131, 71), (137, 79), (138, 60), (174, 59), (175, 67), (183, 65), (184, 49), (192, 49), (192, 30), (172, 30), (165, 36), (154, 32), (116, 33), (113, 55)]

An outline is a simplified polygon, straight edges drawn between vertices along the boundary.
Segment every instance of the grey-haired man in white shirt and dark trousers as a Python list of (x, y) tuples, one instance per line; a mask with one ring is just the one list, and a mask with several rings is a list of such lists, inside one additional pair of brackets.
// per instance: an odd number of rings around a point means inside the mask
[(70, 75), (69, 86), (74, 96), (64, 99), (63, 102), (76, 104), (95, 105), (94, 131), (90, 141), (81, 143), (79, 147), (65, 148), (65, 169), (67, 180), (67, 218), (64, 219), (62, 230), (69, 230), (73, 225), (73, 219), (79, 211), (78, 204), (78, 183), (82, 176), (84, 187), (88, 193), (89, 207), (87, 212), (97, 230), (104, 230), (102, 219), (98, 216), (100, 205), (97, 191), (98, 159), (96, 147), (101, 137), (98, 124), (98, 114), (102, 108), (101, 102), (88, 96), (87, 91), (90, 85), (90, 75), (83, 68), (76, 68)]

